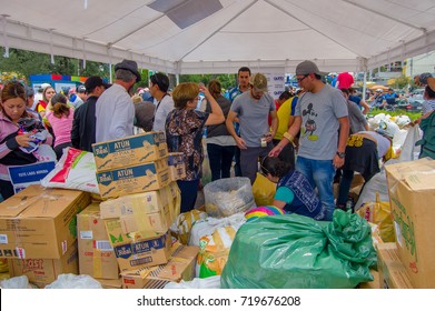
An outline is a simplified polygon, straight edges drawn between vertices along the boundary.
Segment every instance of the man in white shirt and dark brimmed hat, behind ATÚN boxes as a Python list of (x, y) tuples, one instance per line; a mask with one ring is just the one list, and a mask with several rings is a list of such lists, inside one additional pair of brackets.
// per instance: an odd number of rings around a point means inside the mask
[(97, 100), (96, 142), (134, 134), (135, 107), (129, 91), (140, 81), (138, 64), (122, 60), (115, 66), (115, 83)]

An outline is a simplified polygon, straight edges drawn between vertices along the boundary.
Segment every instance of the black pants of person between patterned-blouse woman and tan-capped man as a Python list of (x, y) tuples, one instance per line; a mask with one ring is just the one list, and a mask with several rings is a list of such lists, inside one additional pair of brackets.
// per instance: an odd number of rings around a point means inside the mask
[(230, 177), (233, 157), (236, 148), (236, 146), (207, 143), (207, 154), (210, 162), (211, 181)]

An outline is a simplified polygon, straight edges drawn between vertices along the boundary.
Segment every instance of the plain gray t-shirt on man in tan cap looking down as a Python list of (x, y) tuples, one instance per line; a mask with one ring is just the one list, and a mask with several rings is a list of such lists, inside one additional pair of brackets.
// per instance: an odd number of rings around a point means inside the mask
[(261, 137), (269, 132), (267, 117), (270, 111), (276, 110), (273, 97), (265, 93), (259, 100), (255, 100), (248, 91), (239, 94), (230, 109), (239, 118), (240, 137), (246, 146), (261, 147)]

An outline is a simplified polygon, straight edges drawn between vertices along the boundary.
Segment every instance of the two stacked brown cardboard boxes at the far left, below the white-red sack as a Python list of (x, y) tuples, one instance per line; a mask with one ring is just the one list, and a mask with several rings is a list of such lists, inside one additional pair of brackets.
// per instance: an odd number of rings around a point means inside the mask
[(29, 185), (0, 203), (0, 257), (11, 278), (27, 275), (39, 288), (59, 274), (78, 274), (76, 215), (89, 193)]

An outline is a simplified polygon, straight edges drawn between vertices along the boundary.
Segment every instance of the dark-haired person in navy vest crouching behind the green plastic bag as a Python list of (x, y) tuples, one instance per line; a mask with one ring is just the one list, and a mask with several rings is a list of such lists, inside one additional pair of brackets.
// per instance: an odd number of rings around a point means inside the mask
[(274, 205), (287, 213), (297, 213), (315, 220), (324, 220), (325, 209), (305, 175), (295, 171), (294, 165), (266, 157), (261, 161), (261, 173), (277, 183)]

